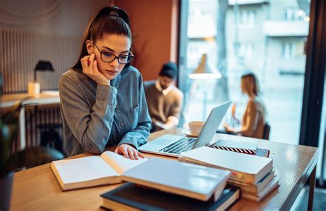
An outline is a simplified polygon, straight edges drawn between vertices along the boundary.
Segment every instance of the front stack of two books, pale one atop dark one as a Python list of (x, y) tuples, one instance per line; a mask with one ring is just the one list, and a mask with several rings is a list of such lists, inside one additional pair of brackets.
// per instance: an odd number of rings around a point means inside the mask
[(101, 195), (112, 210), (225, 210), (239, 199), (239, 188), (227, 186), (230, 171), (151, 158), (124, 172), (127, 184)]

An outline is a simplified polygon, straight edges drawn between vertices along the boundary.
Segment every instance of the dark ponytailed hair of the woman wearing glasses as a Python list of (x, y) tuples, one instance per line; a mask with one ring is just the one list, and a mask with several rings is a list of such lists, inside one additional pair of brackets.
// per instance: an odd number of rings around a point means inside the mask
[[(130, 19), (126, 11), (116, 6), (102, 8), (89, 21), (83, 37), (83, 45), (77, 63), (72, 67), (77, 71), (82, 69), (80, 59), (88, 55), (86, 41), (94, 42), (105, 35), (117, 34), (127, 36), (131, 41)], [(128, 67), (130, 63), (124, 67)]]

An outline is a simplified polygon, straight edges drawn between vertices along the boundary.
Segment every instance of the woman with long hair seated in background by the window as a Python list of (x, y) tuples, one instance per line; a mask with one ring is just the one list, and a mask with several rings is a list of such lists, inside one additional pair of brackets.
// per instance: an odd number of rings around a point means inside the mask
[(224, 124), (227, 132), (255, 138), (263, 138), (265, 125), (265, 107), (258, 96), (258, 81), (254, 74), (245, 74), (241, 77), (241, 91), (249, 100), (245, 113), (243, 113), (242, 126), (239, 129)]

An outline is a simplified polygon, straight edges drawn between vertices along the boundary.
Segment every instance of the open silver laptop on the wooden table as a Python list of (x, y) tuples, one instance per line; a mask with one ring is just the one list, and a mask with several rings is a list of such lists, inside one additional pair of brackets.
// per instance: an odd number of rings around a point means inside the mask
[(159, 155), (179, 157), (180, 153), (190, 151), (193, 148), (208, 146), (212, 140), (219, 124), (226, 115), (232, 101), (215, 107), (210, 111), (208, 118), (200, 131), (198, 138), (185, 137), (182, 135), (162, 135), (155, 140), (139, 147), (139, 151)]

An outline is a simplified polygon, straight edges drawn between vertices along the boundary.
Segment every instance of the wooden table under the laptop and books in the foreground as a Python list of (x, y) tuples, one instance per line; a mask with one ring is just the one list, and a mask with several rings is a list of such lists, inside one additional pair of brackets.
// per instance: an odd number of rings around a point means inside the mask
[[(181, 129), (170, 129), (152, 133), (149, 140), (160, 135), (182, 134)], [(316, 179), (316, 162), (318, 148), (282, 144), (247, 137), (217, 133), (213, 140), (240, 140), (258, 143), (259, 148), (268, 148), (274, 157), (275, 174), (280, 176), (280, 187), (272, 192), (261, 203), (240, 199), (231, 210), (290, 210), (296, 197), (310, 177), (309, 209), (312, 209), (312, 199)], [(75, 157), (89, 156), (89, 153)], [(164, 157), (149, 155), (148, 157)], [(171, 158), (171, 157), (167, 157)], [(174, 159), (174, 158), (171, 158)], [(239, 161), (241, 162), (241, 161)], [(52, 173), (50, 164), (37, 166), (14, 174), (12, 190), (12, 210), (100, 210), (103, 192), (112, 190), (118, 185), (85, 188), (63, 192)]]

